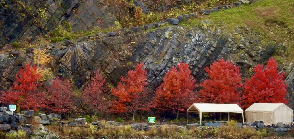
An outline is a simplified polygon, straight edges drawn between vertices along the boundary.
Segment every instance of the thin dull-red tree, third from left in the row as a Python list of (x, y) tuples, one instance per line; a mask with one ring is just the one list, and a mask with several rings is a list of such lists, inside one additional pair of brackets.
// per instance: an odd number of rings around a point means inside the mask
[(107, 86), (105, 85), (105, 79), (99, 72), (94, 73), (94, 77), (91, 78), (91, 83), (87, 84), (83, 94), (83, 102), (88, 105), (92, 110), (106, 112), (108, 108), (108, 101), (105, 92)]

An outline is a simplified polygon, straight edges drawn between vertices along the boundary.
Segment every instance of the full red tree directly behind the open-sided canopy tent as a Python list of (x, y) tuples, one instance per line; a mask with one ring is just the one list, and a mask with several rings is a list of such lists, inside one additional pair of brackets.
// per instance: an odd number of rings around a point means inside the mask
[(229, 61), (220, 59), (205, 68), (209, 79), (200, 84), (200, 100), (204, 103), (239, 104), (241, 100), (237, 88), (242, 87), (239, 68)]

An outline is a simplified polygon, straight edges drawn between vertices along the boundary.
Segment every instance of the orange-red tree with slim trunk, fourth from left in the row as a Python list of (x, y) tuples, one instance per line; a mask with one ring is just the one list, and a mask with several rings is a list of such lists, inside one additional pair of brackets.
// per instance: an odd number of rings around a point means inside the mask
[(118, 86), (111, 89), (111, 94), (116, 97), (113, 101), (113, 110), (116, 113), (132, 113), (133, 120), (136, 112), (150, 111), (149, 91), (146, 89), (147, 71), (144, 64), (138, 63), (136, 70), (128, 71), (126, 78), (121, 77)]

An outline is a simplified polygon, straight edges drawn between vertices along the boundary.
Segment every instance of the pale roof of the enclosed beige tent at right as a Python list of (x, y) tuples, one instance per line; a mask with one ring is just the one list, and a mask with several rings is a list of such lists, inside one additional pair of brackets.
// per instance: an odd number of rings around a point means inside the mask
[(245, 110), (246, 113), (273, 113), (276, 109), (280, 108), (281, 106), (285, 106), (287, 109), (293, 112), (288, 106), (283, 103), (254, 103), (248, 109)]

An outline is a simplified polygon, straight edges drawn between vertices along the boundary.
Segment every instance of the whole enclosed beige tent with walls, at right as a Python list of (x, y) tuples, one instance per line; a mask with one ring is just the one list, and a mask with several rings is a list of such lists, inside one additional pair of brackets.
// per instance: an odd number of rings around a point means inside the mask
[(293, 110), (283, 103), (254, 103), (245, 110), (246, 121), (263, 121), (267, 125), (292, 122)]

